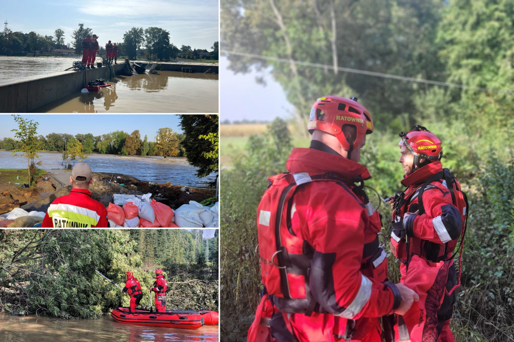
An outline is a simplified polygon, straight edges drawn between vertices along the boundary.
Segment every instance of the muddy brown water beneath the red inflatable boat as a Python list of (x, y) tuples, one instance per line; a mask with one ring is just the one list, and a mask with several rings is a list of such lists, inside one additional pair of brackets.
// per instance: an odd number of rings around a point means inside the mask
[(0, 314), (0, 340), (22, 342), (54, 341), (218, 341), (218, 326), (195, 330), (144, 327), (100, 319), (58, 319)]

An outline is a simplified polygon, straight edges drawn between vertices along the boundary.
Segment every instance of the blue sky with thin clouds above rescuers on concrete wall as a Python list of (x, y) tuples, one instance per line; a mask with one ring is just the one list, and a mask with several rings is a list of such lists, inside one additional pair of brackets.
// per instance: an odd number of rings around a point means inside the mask
[[(217, 0), (44, 0), (2, 1), (2, 23), (12, 31), (53, 35), (64, 31), (65, 43), (72, 42), (79, 23), (93, 29), (100, 46), (107, 41), (122, 42), (133, 27), (152, 26), (170, 32), (170, 42), (178, 48), (211, 50), (219, 41)], [(2, 30), (4, 25), (2, 25)]]

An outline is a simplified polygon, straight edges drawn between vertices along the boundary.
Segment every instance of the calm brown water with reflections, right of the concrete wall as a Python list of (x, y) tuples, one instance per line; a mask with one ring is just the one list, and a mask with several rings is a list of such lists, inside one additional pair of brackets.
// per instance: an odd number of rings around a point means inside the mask
[(34, 112), (217, 112), (218, 75), (158, 71), (119, 75), (109, 87), (71, 94)]

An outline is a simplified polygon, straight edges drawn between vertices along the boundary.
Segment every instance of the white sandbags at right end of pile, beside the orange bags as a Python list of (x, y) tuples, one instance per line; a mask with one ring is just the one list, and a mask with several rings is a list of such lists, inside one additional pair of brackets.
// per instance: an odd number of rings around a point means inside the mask
[(219, 227), (218, 203), (209, 207), (189, 201), (189, 204), (182, 204), (175, 210), (173, 221), (181, 228), (217, 228)]

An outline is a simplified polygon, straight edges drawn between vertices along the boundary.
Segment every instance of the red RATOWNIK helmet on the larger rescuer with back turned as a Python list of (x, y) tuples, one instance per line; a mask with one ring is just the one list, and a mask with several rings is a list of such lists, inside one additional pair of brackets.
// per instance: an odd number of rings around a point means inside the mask
[[(341, 134), (343, 125), (351, 125), (357, 129), (357, 137), (349, 143)], [(337, 138), (346, 150), (359, 146), (366, 134), (373, 132), (373, 120), (370, 112), (357, 102), (356, 97), (350, 99), (327, 96), (319, 98), (310, 110), (309, 133), (319, 129)]]

